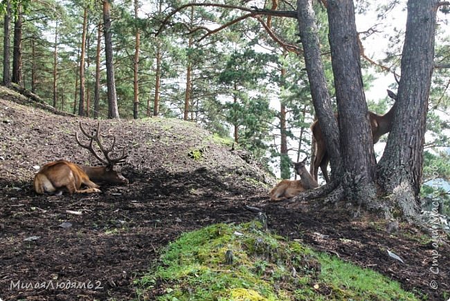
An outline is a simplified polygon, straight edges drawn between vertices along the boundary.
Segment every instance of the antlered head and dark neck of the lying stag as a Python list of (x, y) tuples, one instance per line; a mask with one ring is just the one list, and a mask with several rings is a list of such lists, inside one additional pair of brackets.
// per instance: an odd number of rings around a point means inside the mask
[[(78, 145), (89, 150), (94, 155), (94, 157), (97, 158), (98, 161), (102, 162), (102, 164), (105, 165), (101, 167), (80, 166), (84, 170), (84, 172), (89, 175), (89, 178), (91, 178), (91, 180), (101, 180), (113, 184), (128, 184), (128, 180), (121, 173), (119, 173), (118, 171), (114, 171), (114, 166), (118, 163), (125, 162), (125, 159), (128, 157), (128, 155), (126, 154), (126, 148), (123, 148), (122, 155), (115, 158), (110, 157), (111, 151), (114, 150), (114, 144), (116, 144), (116, 137), (113, 136), (111, 147), (105, 148), (100, 141), (100, 137), (98, 137), (98, 135), (100, 135), (100, 122), (97, 123), (97, 129), (94, 130), (93, 135), (89, 135), (87, 131), (84, 130), (81, 121), (80, 130), (82, 131), (84, 136), (89, 138), (89, 144), (82, 144), (80, 142), (80, 139), (78, 139), (78, 132), (75, 132), (75, 140), (77, 141)], [(105, 159), (103, 159), (93, 148), (93, 141), (96, 141), (96, 144)]]

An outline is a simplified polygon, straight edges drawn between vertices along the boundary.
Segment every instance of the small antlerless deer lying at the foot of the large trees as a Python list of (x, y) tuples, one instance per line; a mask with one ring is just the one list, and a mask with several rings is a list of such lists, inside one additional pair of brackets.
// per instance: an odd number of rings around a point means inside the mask
[(300, 191), (318, 187), (316, 180), (307, 171), (305, 162), (306, 158), (302, 162), (292, 162), (294, 170), (300, 175), (300, 180), (282, 180), (270, 191), (270, 200), (285, 200), (298, 195)]

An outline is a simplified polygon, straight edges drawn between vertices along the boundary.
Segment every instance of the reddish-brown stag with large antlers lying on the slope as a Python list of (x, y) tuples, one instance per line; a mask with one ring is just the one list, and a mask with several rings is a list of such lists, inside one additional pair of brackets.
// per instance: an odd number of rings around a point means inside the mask
[[(80, 122), (80, 129), (85, 136), (90, 139), (89, 144), (82, 144), (78, 139), (78, 132), (75, 132), (75, 139), (77, 143), (83, 148), (87, 148), (102, 164), (105, 166), (84, 166), (74, 164), (66, 160), (58, 160), (50, 162), (42, 166), (42, 169), (35, 175), (33, 181), (33, 187), (38, 194), (43, 193), (62, 193), (66, 190), (70, 194), (72, 193), (98, 193), (100, 187), (98, 184), (91, 180), (108, 182), (112, 184), (128, 184), (128, 180), (118, 171), (114, 171), (114, 165), (120, 162), (124, 162), (127, 155), (125, 155), (125, 148), (123, 148), (123, 154), (117, 158), (109, 157), (109, 153), (114, 148), (116, 143), (116, 137), (114, 137), (113, 144), (110, 148), (105, 149), (102, 146), (100, 138), (98, 137), (100, 132), (100, 123), (97, 125), (95, 135), (89, 135), (84, 130)], [(102, 159), (100, 155), (93, 149), (93, 141), (100, 148), (105, 159)], [(87, 189), (80, 189), (82, 184), (86, 185)]]

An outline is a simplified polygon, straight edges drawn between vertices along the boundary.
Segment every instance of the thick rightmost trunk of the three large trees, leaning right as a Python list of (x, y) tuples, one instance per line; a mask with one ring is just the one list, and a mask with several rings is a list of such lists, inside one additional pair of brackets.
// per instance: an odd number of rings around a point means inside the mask
[(393, 195), (393, 206), (402, 209), (406, 218), (415, 216), (419, 209), (417, 196), (422, 182), (438, 5), (437, 0), (408, 1), (398, 105), (378, 164), (379, 184), (386, 193)]

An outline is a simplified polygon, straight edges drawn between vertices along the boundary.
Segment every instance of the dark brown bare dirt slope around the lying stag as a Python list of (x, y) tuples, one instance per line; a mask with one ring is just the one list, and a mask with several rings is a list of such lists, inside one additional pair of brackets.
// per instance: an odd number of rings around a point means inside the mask
[[(12, 98), (15, 102), (6, 100)], [(255, 214), (245, 205), (263, 209), (271, 231), (377, 270), (429, 300), (444, 300), (445, 292), (449, 298), (447, 242), (434, 248), (433, 241), (406, 224), (388, 234), (375, 218), (352, 218), (351, 206), (271, 203), (267, 193), (273, 178), (191, 123), (101, 121), (103, 133), (116, 135), (118, 152), (127, 146), (129, 157), (119, 169), (130, 183), (102, 184), (98, 194), (37, 196), (32, 181), (42, 164), (97, 162), (75, 143), (79, 118), (17, 102), (24, 100), (0, 91), (3, 300), (136, 298), (133, 280), (163, 246), (204, 225), (250, 221)], [(96, 121), (81, 120), (85, 128), (96, 126)], [(430, 270), (433, 263), (436, 274)], [(431, 288), (431, 282), (438, 288)]]

